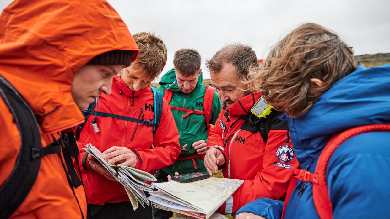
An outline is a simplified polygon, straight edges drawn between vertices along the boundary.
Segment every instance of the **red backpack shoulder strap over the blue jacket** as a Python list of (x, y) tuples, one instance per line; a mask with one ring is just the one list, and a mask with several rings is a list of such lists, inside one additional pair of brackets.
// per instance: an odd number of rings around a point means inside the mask
[(342, 131), (341, 133), (333, 136), (321, 152), (315, 173), (318, 175), (318, 182), (314, 182), (313, 184), (314, 205), (316, 206), (316, 210), (321, 218), (332, 218), (332, 203), (329, 198), (329, 190), (326, 184), (326, 168), (330, 157), (337, 147), (339, 147), (347, 139), (369, 131), (390, 131), (390, 124), (358, 126)]

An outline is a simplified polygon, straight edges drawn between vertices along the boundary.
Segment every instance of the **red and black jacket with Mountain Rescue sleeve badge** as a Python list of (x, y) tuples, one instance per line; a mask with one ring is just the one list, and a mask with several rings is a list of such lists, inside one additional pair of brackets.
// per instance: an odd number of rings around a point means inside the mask
[(223, 214), (235, 214), (257, 198), (284, 200), (292, 168), (299, 167), (287, 140), (287, 122), (279, 119), (282, 112), (276, 111), (272, 117), (266, 143), (260, 133), (263, 124), (250, 123), (249, 110), (260, 96), (252, 93), (222, 110), (207, 138), (207, 149), (215, 147), (225, 156), (223, 176), (245, 180), (221, 206)]

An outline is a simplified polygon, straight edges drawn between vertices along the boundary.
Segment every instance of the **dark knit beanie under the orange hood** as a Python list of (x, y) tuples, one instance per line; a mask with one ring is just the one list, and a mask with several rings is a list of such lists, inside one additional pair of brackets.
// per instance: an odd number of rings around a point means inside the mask
[(129, 50), (113, 50), (92, 58), (87, 65), (126, 65), (131, 64), (133, 51)]

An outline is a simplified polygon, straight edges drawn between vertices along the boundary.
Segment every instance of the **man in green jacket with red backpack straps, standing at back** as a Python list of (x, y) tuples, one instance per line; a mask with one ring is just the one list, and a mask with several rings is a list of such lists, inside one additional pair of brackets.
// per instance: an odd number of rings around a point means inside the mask
[[(194, 49), (180, 49), (174, 55), (174, 68), (168, 71), (157, 88), (167, 99), (179, 131), (182, 150), (177, 161), (156, 172), (158, 182), (168, 175), (191, 172), (207, 173), (204, 166), (209, 124), (215, 124), (222, 102), (214, 88), (202, 84), (200, 54)], [(206, 121), (206, 118), (208, 121)], [(172, 212), (153, 210), (154, 219), (172, 217)]]

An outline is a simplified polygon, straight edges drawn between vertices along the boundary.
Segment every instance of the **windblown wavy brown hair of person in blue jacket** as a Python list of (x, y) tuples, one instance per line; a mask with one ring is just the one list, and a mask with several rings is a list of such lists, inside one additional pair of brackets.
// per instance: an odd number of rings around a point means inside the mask
[[(356, 70), (353, 50), (323, 26), (305, 23), (277, 42), (261, 68), (249, 72), (248, 89), (290, 117), (305, 115), (335, 82)], [(310, 79), (319, 79), (317, 86)]]

